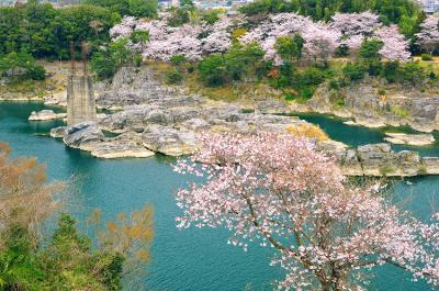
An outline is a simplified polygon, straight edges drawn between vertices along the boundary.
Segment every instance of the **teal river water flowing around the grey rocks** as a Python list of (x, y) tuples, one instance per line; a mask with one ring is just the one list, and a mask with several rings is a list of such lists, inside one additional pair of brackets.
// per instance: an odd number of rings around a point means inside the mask
[[(180, 231), (175, 217), (179, 214), (173, 195), (188, 183), (175, 174), (173, 159), (157, 156), (148, 159), (101, 160), (86, 153), (67, 148), (47, 134), (59, 122), (27, 122), (32, 111), (45, 109), (41, 103), (0, 103), (0, 141), (8, 142), (14, 156), (34, 156), (47, 166), (50, 180), (75, 181), (75, 194), (68, 198), (67, 210), (85, 227), (93, 209), (101, 209), (104, 220), (120, 212), (138, 210), (150, 203), (155, 210), (155, 239), (151, 262), (144, 279), (148, 290), (234, 291), (272, 290), (271, 282), (282, 279), (278, 268), (268, 265), (270, 249), (250, 246), (247, 253), (227, 245), (227, 231), (190, 228)], [(381, 130), (352, 127), (322, 115), (302, 115), (319, 124), (334, 139), (350, 145), (382, 142)], [(403, 149), (398, 146), (397, 149)], [(439, 146), (421, 150), (439, 156)], [(430, 200), (439, 199), (439, 178), (425, 177), (395, 183), (396, 197), (425, 219), (431, 213)], [(370, 290), (430, 290), (424, 282), (392, 267), (376, 269)]]

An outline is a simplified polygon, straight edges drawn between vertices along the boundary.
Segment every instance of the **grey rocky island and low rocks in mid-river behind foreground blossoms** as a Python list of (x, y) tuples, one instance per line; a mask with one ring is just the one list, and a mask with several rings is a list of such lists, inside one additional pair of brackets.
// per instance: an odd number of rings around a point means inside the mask
[[(299, 117), (275, 114), (289, 110), (277, 101), (257, 102), (256, 111), (248, 113), (236, 104), (190, 94), (184, 88), (167, 87), (150, 68), (122, 68), (112, 81), (98, 83), (95, 93), (97, 107), (110, 110), (110, 114), (100, 115), (95, 122), (53, 128), (50, 136), (98, 158), (145, 158), (156, 153), (177, 157), (196, 150), (196, 134), (202, 131), (284, 133), (291, 126), (308, 124)], [(66, 103), (65, 96), (59, 97), (58, 103)], [(57, 103), (54, 98), (48, 102)], [(387, 134), (392, 143), (420, 141), (416, 145), (425, 145), (435, 141), (430, 135), (421, 137)], [(315, 143), (317, 150), (337, 157), (347, 176), (439, 175), (439, 158), (421, 157), (409, 150), (395, 153), (389, 144), (353, 149), (333, 141), (315, 139)]]

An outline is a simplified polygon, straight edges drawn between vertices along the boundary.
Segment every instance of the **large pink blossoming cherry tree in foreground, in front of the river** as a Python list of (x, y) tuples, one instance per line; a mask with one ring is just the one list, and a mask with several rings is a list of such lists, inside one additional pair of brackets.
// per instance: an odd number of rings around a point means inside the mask
[(205, 134), (200, 143), (176, 165), (206, 177), (177, 193), (178, 226), (227, 227), (229, 243), (245, 250), (250, 243), (273, 247), (271, 262), (286, 271), (280, 288), (360, 290), (364, 272), (384, 264), (439, 284), (439, 214), (424, 224), (379, 186), (349, 184), (309, 139)]

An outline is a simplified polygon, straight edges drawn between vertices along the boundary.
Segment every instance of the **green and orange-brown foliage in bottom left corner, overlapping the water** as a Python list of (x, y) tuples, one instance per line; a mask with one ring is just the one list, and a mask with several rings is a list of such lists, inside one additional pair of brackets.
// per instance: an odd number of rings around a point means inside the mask
[[(59, 209), (64, 183), (47, 183), (34, 158), (13, 159), (0, 144), (0, 290), (122, 290), (131, 262), (149, 259), (150, 208), (121, 214), (98, 231), (99, 244), (61, 214), (49, 239), (42, 224)], [(101, 225), (100, 215), (93, 216)]]

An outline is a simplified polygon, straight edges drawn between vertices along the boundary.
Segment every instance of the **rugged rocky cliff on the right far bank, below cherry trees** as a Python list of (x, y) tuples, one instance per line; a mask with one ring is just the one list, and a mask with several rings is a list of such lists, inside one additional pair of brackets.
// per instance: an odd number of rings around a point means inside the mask
[[(439, 130), (439, 96), (402, 88), (385, 94), (379, 91), (370, 80), (340, 91), (323, 85), (308, 105), (313, 111), (352, 117), (371, 127), (408, 125), (420, 132)], [(334, 96), (342, 98), (345, 105), (336, 107)]]

